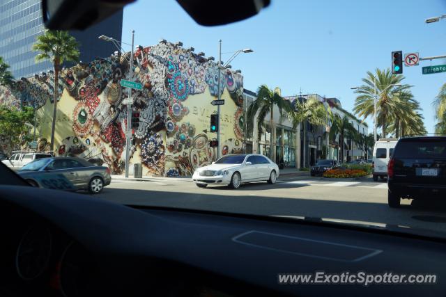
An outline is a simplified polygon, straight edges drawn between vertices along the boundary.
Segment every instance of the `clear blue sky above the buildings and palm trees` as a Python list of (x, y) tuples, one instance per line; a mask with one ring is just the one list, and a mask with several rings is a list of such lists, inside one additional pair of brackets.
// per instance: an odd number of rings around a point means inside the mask
[[(222, 2), (221, 5), (224, 5)], [(234, 10), (237, 8), (234, 7)], [(262, 83), (278, 86), (282, 95), (318, 93), (337, 97), (351, 111), (366, 72), (390, 67), (391, 51), (420, 52), (420, 56), (446, 54), (446, 19), (425, 24), (428, 17), (446, 14), (446, 0), (294, 1), (272, 0), (259, 15), (225, 26), (199, 26), (173, 0), (139, 0), (124, 10), (123, 41), (134, 29), (137, 45), (155, 45), (161, 38), (182, 41), (184, 47), (206, 56), (250, 47), (233, 69), (243, 72), (245, 88)], [(231, 54), (222, 56), (226, 61)], [(431, 102), (446, 83), (446, 72), (422, 74), (422, 66), (446, 60), (421, 61), (404, 67), (406, 83), (423, 109), (425, 125), (433, 133)], [(371, 119), (367, 120), (371, 131)]]

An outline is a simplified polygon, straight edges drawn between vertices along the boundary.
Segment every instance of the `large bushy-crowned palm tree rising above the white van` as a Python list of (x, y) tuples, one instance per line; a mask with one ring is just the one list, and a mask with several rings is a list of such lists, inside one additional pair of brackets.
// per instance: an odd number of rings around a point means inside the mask
[[(376, 74), (367, 72), (362, 79), (364, 85), (355, 90), (356, 97), (353, 111), (364, 119), (374, 115), (374, 80), (376, 77), (376, 126), (383, 129), (383, 137), (387, 134), (389, 118), (401, 109), (410, 109), (403, 101), (397, 100), (404, 90), (409, 90), (408, 84), (401, 84), (404, 77), (401, 74), (392, 74), (390, 69), (376, 69)], [(392, 86), (401, 84), (401, 86)]]

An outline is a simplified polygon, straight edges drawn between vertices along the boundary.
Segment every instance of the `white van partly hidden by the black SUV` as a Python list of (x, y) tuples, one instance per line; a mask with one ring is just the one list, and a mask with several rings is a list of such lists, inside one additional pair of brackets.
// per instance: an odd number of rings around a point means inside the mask
[(374, 156), (372, 166), (374, 168), (374, 181), (378, 180), (378, 177), (387, 177), (387, 164), (389, 163), (390, 156), (392, 156), (393, 149), (397, 145), (397, 138), (380, 138), (375, 143)]

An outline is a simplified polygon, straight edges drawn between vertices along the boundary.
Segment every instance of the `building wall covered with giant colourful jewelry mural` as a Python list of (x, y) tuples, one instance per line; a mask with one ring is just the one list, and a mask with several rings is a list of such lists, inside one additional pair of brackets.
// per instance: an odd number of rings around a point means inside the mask
[[(129, 62), (130, 61), (130, 62)], [(208, 141), (210, 102), (218, 92), (215, 63), (167, 42), (140, 47), (134, 53), (81, 63), (60, 74), (55, 151), (107, 165), (121, 174), (125, 161), (128, 89), (121, 79), (143, 84), (132, 90), (139, 127), (133, 131), (130, 162), (142, 163), (144, 175), (192, 175), (199, 166), (215, 161)], [(243, 150), (243, 77), (221, 70), (222, 154)], [(38, 118), (38, 148), (48, 148), (52, 121), (54, 74), (21, 79), (12, 88), (0, 86), (0, 104), (34, 106)]]

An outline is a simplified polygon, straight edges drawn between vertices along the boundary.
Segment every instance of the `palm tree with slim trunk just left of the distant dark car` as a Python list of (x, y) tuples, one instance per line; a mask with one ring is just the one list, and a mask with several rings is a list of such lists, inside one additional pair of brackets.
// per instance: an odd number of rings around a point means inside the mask
[(327, 110), (325, 106), (318, 100), (311, 98), (296, 99), (293, 109), (289, 109), (289, 118), (293, 122), (293, 129), (296, 129), (303, 122), (304, 145), (303, 145), (303, 166), (307, 167), (306, 147), (307, 147), (307, 123), (312, 125), (324, 125), (327, 121)]

